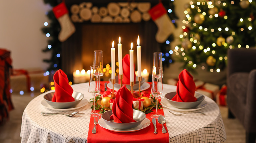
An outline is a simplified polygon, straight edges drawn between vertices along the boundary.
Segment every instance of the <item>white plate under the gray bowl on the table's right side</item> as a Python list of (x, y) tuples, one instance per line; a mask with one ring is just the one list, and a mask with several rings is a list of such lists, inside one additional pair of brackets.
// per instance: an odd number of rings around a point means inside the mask
[(160, 103), (166, 108), (172, 109), (174, 111), (181, 111), (181, 112), (190, 112), (190, 111), (200, 110), (208, 105), (207, 101), (203, 100), (202, 103), (200, 103), (197, 107), (189, 108), (189, 109), (181, 109), (181, 108), (176, 108), (172, 106), (170, 103), (168, 103), (168, 101), (165, 98), (162, 98)]

